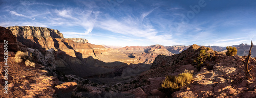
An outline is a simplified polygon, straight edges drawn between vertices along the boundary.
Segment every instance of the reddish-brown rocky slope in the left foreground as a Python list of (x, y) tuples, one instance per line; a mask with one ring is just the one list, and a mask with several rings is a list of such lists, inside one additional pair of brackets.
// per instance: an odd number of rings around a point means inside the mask
[[(49, 76), (53, 75), (53, 72), (44, 70), (45, 68), (49, 69), (51, 67), (46, 66), (51, 64), (47, 58), (54, 57), (54, 55), (49, 54), (47, 51), (46, 56), (44, 56), (39, 51), (16, 42), (16, 38), (12, 35), (11, 31), (3, 27), (0, 27), (0, 33), (4, 36), (3, 38), (1, 37), (2, 39), (8, 40), (7, 62), (2, 61), (2, 59), (0, 61), (0, 70), (2, 71), (0, 72), (0, 77), (2, 77), (0, 78), (0, 89), (2, 89), (0, 97), (57, 97), (54, 87), (60, 84), (59, 80), (55, 76)], [(31, 58), (34, 59), (35, 68), (26, 66), (24, 61), (16, 63), (14, 56), (17, 51), (29, 52)], [(0, 54), (3, 54), (3, 52), (1, 51)], [(53, 68), (49, 70), (52, 71)], [(6, 91), (4, 88), (8, 88), (8, 94), (4, 93)], [(69, 86), (66, 87), (66, 89), (69, 88)]]

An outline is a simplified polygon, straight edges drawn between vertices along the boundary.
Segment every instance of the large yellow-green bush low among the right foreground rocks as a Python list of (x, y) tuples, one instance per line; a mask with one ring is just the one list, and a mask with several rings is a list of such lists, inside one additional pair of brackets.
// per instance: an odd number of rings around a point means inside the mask
[(193, 80), (193, 74), (188, 71), (178, 76), (166, 76), (161, 84), (160, 90), (165, 92), (169, 97), (173, 92), (178, 91), (180, 87), (187, 85), (191, 80)]

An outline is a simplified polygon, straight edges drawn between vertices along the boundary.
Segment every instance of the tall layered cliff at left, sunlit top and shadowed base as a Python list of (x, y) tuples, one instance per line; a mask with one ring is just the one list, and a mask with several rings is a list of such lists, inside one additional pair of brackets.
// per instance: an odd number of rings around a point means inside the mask
[[(43, 55), (53, 48), (56, 68), (80, 77), (113, 77), (115, 68), (128, 66), (137, 59), (124, 53), (88, 43), (82, 38), (63, 38), (58, 30), (41, 27), (7, 27), (22, 44), (39, 50)], [(127, 64), (126, 64), (127, 63)]]

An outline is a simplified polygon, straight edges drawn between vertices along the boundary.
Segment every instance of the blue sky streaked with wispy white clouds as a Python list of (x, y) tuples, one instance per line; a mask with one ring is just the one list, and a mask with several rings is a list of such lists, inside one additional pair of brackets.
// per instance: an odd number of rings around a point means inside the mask
[(218, 45), (255, 41), (255, 1), (0, 0), (0, 26), (36, 26), (93, 44)]

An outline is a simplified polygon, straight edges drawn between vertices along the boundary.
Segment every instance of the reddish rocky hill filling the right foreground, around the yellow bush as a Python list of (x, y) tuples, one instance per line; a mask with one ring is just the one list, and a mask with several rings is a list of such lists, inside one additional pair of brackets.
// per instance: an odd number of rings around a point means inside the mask
[[(205, 66), (198, 71), (194, 60), (201, 50), (209, 53), (211, 58), (206, 60)], [(137, 78), (140, 82), (136, 84), (142, 85), (143, 91), (150, 95), (154, 89), (161, 86), (161, 81), (166, 75), (176, 76), (187, 69), (194, 70), (194, 80), (174, 92), (172, 97), (256, 97), (256, 60), (250, 59), (249, 63), (249, 67), (254, 66), (250, 72), (253, 80), (245, 78), (244, 61), (244, 57), (218, 54), (204, 46), (194, 44), (177, 55), (159, 55), (151, 70), (143, 72)], [(145, 80), (150, 83), (143, 82)]]

